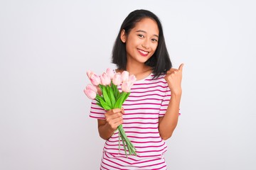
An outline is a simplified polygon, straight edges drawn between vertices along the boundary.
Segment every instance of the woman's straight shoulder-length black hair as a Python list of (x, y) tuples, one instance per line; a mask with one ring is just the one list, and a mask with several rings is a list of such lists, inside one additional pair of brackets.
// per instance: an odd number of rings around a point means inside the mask
[(118, 69), (126, 70), (127, 65), (127, 52), (125, 43), (122, 42), (120, 35), (122, 30), (125, 30), (125, 33), (129, 35), (130, 30), (135, 27), (136, 23), (141, 21), (143, 18), (151, 18), (156, 21), (159, 28), (159, 42), (156, 47), (154, 55), (152, 55), (149, 60), (145, 62), (146, 65), (153, 69), (153, 74), (155, 77), (159, 77), (160, 74), (166, 73), (171, 69), (172, 64), (169, 57), (169, 53), (166, 48), (166, 43), (164, 40), (163, 28), (159, 18), (152, 13), (144, 9), (135, 10), (129, 13), (127, 18), (124, 19), (122, 26), (117, 35), (117, 39), (114, 42), (114, 47), (112, 50), (112, 63), (117, 65)]

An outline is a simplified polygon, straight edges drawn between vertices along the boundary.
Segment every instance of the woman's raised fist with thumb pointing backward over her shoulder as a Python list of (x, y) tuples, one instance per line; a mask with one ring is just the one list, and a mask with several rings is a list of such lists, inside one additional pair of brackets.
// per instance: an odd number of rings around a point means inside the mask
[(183, 65), (181, 64), (178, 69), (169, 69), (166, 72), (166, 79), (169, 89), (171, 90), (171, 94), (180, 94), (181, 95), (181, 79), (182, 79), (182, 69)]

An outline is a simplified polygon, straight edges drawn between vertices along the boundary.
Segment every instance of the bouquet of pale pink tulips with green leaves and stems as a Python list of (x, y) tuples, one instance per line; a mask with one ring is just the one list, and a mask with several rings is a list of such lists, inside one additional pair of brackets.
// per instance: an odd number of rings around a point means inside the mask
[[(129, 76), (129, 72), (124, 71), (121, 73), (114, 73), (112, 69), (108, 68), (106, 72), (98, 76), (94, 72), (87, 71), (92, 84), (88, 84), (84, 90), (86, 96), (90, 99), (95, 99), (97, 105), (104, 108), (105, 111), (113, 108), (121, 108), (124, 101), (128, 98), (130, 90), (136, 81), (134, 75)], [(122, 91), (117, 89), (117, 86), (121, 86)], [(120, 152), (120, 140), (124, 146), (124, 152), (127, 157), (127, 150), (129, 154), (136, 154), (136, 149), (132, 142), (122, 128), (122, 125), (117, 127), (119, 132), (119, 152)]]

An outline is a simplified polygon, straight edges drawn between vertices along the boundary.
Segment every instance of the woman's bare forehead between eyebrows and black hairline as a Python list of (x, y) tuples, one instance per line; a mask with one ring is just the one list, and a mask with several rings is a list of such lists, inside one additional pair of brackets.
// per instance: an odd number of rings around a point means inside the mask
[(144, 30), (146, 33), (159, 35), (159, 28), (157, 23), (151, 18), (143, 18), (142, 20), (138, 21), (132, 30)]

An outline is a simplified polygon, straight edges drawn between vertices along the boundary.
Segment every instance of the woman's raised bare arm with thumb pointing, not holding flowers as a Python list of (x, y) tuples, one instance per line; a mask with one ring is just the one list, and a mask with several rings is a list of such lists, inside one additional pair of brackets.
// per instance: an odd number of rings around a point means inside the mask
[(178, 112), (181, 103), (181, 79), (183, 64), (178, 69), (170, 69), (164, 79), (171, 91), (171, 99), (163, 117), (159, 117), (159, 134), (163, 140), (169, 139), (178, 123)]

